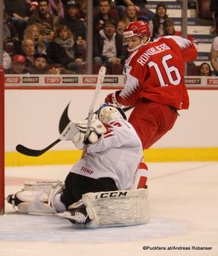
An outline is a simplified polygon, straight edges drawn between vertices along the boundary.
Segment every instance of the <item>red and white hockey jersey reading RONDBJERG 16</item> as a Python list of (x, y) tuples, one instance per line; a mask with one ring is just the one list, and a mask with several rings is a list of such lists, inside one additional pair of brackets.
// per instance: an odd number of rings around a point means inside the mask
[(135, 105), (146, 98), (177, 109), (188, 108), (185, 62), (194, 61), (197, 56), (191, 41), (176, 36), (158, 38), (142, 46), (125, 63), (126, 83), (118, 102)]

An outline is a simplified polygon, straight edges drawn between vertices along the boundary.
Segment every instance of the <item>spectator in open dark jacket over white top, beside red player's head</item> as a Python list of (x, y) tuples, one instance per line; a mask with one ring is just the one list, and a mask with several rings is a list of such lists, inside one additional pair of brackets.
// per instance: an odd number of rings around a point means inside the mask
[(116, 30), (116, 20), (107, 20), (104, 28), (94, 36), (94, 63), (105, 65), (109, 73), (112, 71), (112, 65), (123, 64), (125, 59), (123, 36)]

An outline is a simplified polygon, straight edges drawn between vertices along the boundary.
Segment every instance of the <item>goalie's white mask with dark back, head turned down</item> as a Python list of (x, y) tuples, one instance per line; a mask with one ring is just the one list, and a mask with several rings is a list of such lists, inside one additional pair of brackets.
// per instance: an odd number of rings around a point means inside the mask
[(98, 110), (98, 119), (102, 123), (109, 123), (114, 119), (127, 119), (125, 113), (121, 108), (109, 104), (103, 104)]

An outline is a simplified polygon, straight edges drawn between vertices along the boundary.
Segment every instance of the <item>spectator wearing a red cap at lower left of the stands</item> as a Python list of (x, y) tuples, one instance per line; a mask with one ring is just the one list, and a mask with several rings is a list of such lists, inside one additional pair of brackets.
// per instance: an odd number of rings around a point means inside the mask
[(5, 73), (28, 73), (25, 67), (26, 58), (24, 55), (14, 55), (11, 62), (11, 67), (5, 70)]

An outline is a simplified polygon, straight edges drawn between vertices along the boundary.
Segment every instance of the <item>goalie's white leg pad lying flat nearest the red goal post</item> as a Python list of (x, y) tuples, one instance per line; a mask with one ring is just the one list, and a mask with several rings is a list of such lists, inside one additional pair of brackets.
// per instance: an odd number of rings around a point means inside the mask
[(54, 196), (64, 188), (60, 181), (38, 181), (24, 183), (24, 188), (9, 195), (7, 201), (11, 203), (16, 212), (32, 214), (54, 214)]

